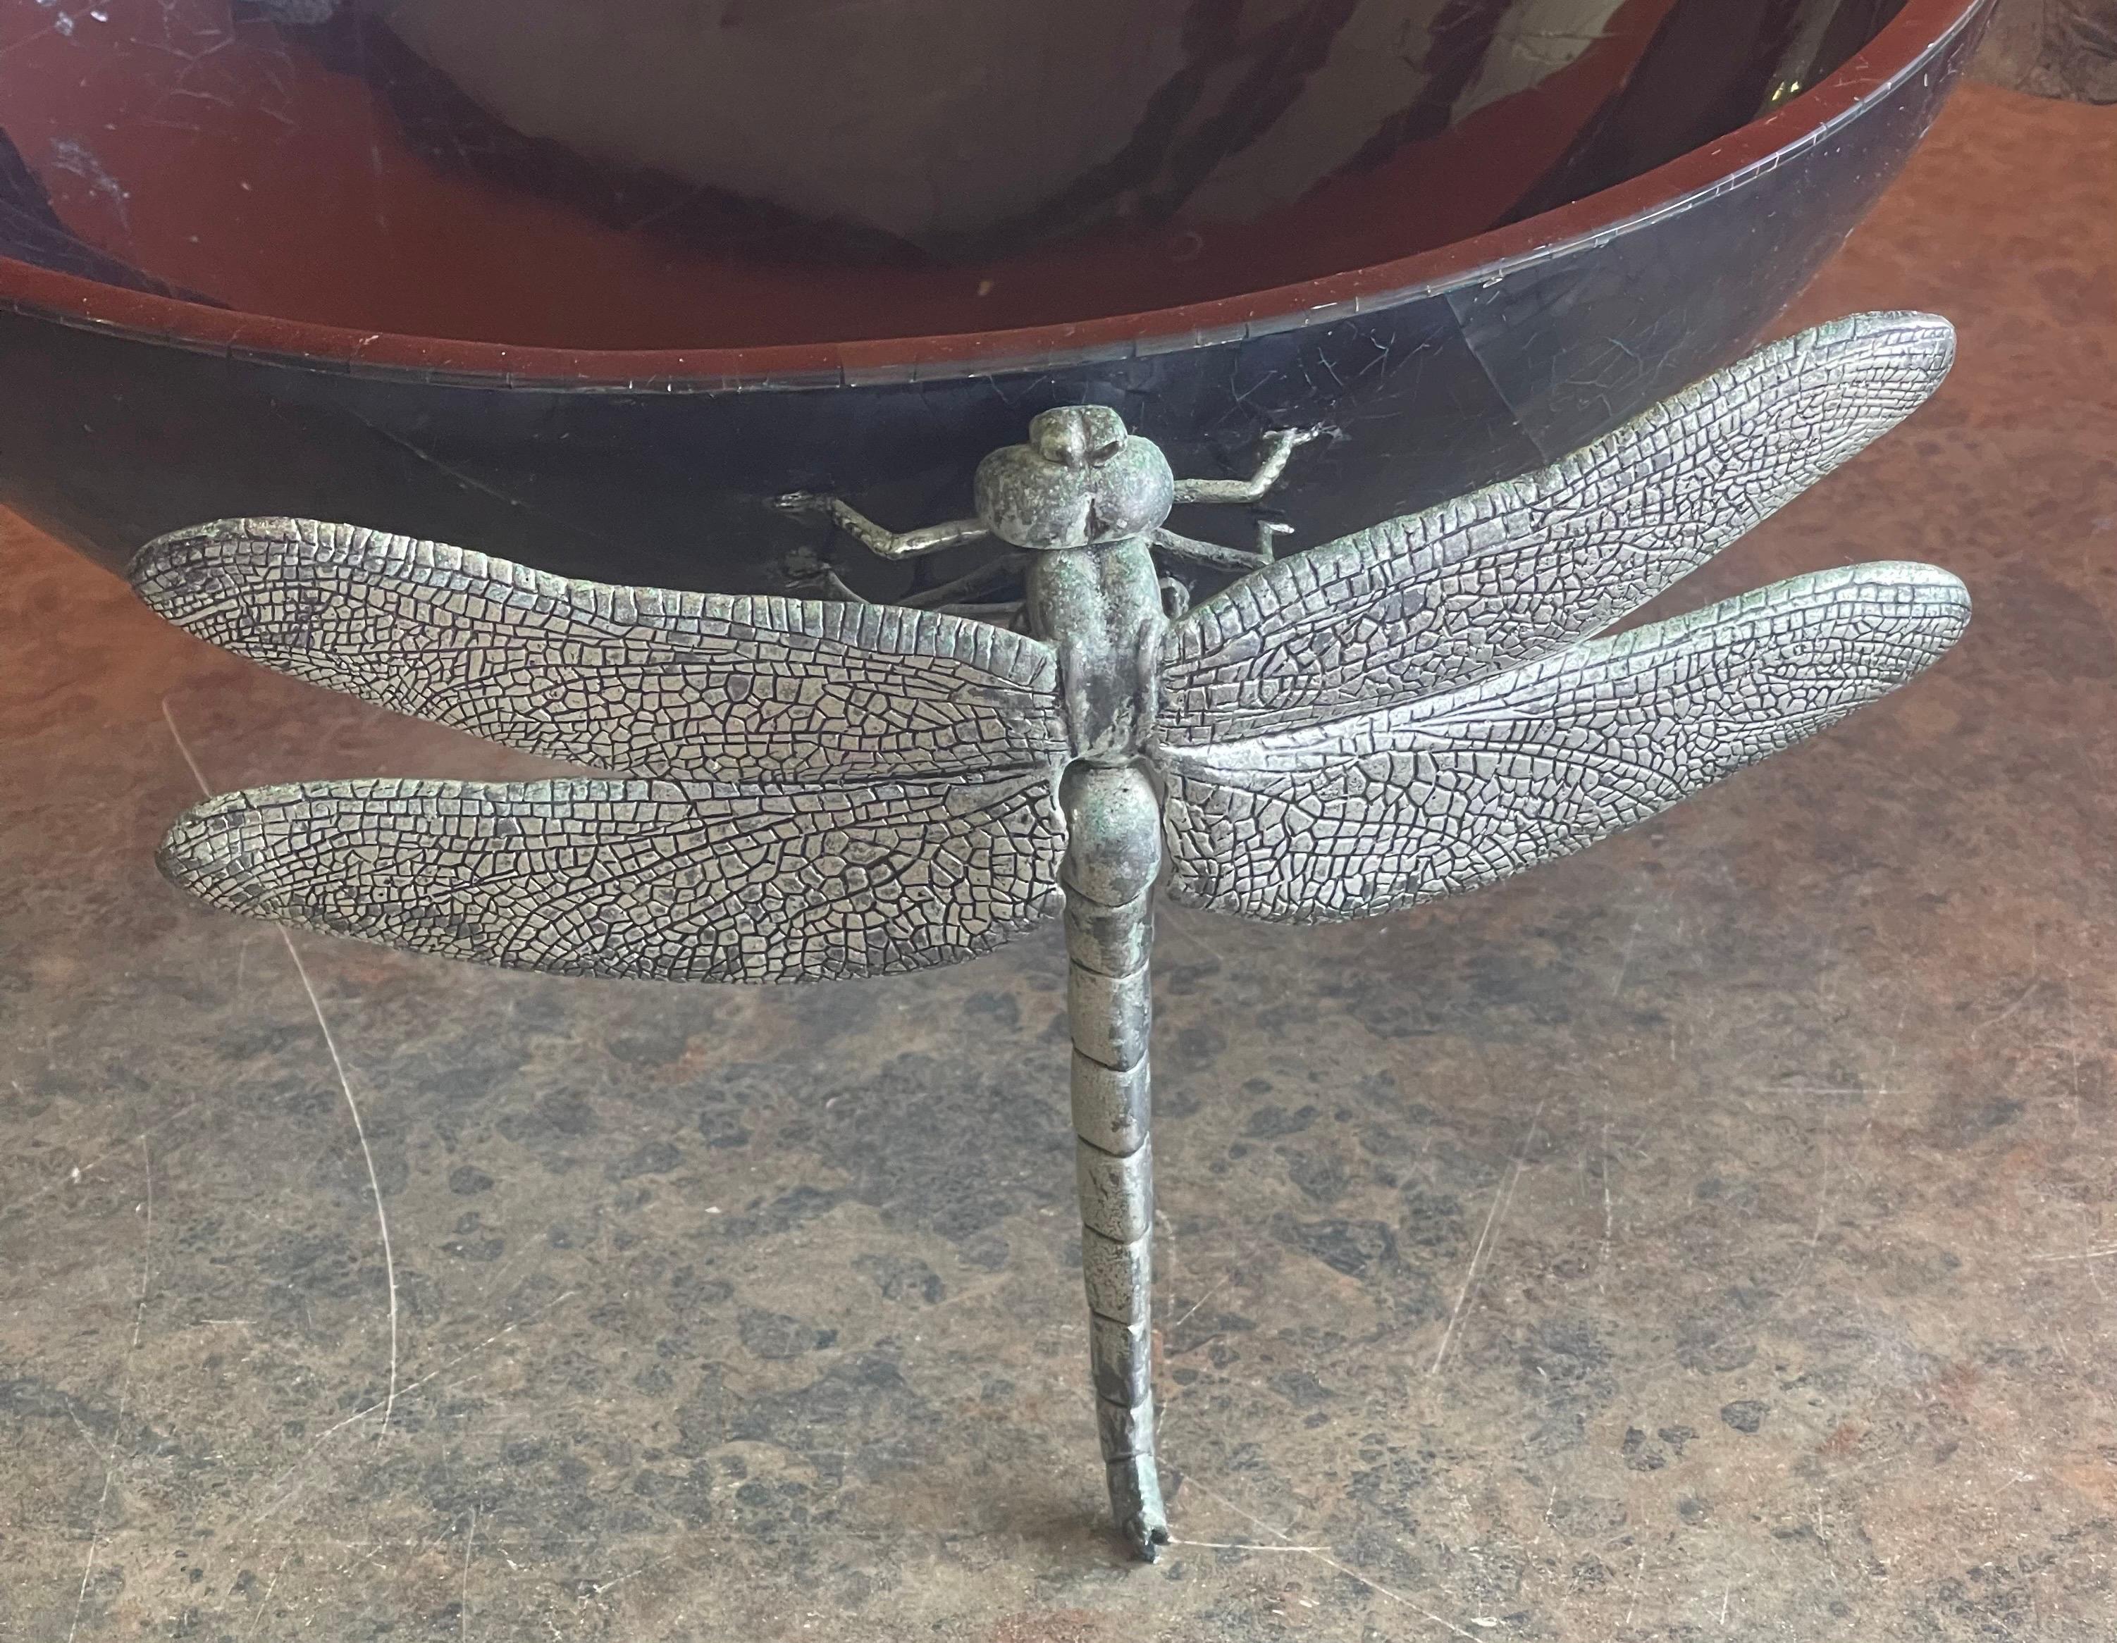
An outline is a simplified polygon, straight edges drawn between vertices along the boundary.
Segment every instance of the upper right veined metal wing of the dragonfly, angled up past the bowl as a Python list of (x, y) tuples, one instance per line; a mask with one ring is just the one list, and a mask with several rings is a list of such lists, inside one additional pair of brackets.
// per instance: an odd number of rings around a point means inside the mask
[(1247, 576), (1173, 629), (1158, 735), (1327, 724), (1598, 633), (1903, 421), (1952, 360), (1946, 320), (1838, 320), (1541, 472)]

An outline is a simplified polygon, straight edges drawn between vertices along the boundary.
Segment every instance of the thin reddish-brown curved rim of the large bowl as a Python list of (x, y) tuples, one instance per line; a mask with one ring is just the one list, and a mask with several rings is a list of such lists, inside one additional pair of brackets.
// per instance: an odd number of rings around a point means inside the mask
[(188, 303), (0, 256), (0, 309), (241, 360), (466, 385), (696, 392), (857, 387), (1109, 364), (1247, 341), (1497, 284), (1725, 193), (1931, 68), (1996, 0), (1905, 0), (1833, 74), (1725, 138), (1550, 212), (1359, 269), (1179, 307), (1010, 330), (764, 347), (529, 347), (360, 330)]

